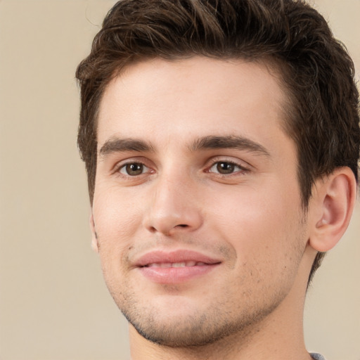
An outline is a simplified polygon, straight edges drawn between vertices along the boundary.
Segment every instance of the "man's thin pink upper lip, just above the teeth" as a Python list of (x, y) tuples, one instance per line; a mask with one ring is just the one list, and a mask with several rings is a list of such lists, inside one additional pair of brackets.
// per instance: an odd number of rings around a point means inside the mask
[(221, 260), (210, 257), (193, 250), (164, 251), (154, 250), (147, 252), (134, 262), (135, 266), (143, 267), (148, 264), (178, 263), (178, 262), (203, 262), (205, 264), (219, 264)]

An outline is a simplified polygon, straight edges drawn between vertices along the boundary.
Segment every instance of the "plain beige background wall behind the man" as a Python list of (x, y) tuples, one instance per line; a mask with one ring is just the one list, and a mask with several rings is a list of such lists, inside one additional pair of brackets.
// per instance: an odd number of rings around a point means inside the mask
[[(360, 71), (360, 0), (314, 1)], [(90, 248), (74, 72), (110, 0), (0, 0), (0, 359), (128, 359)], [(306, 304), (309, 350), (360, 360), (360, 208)]]

